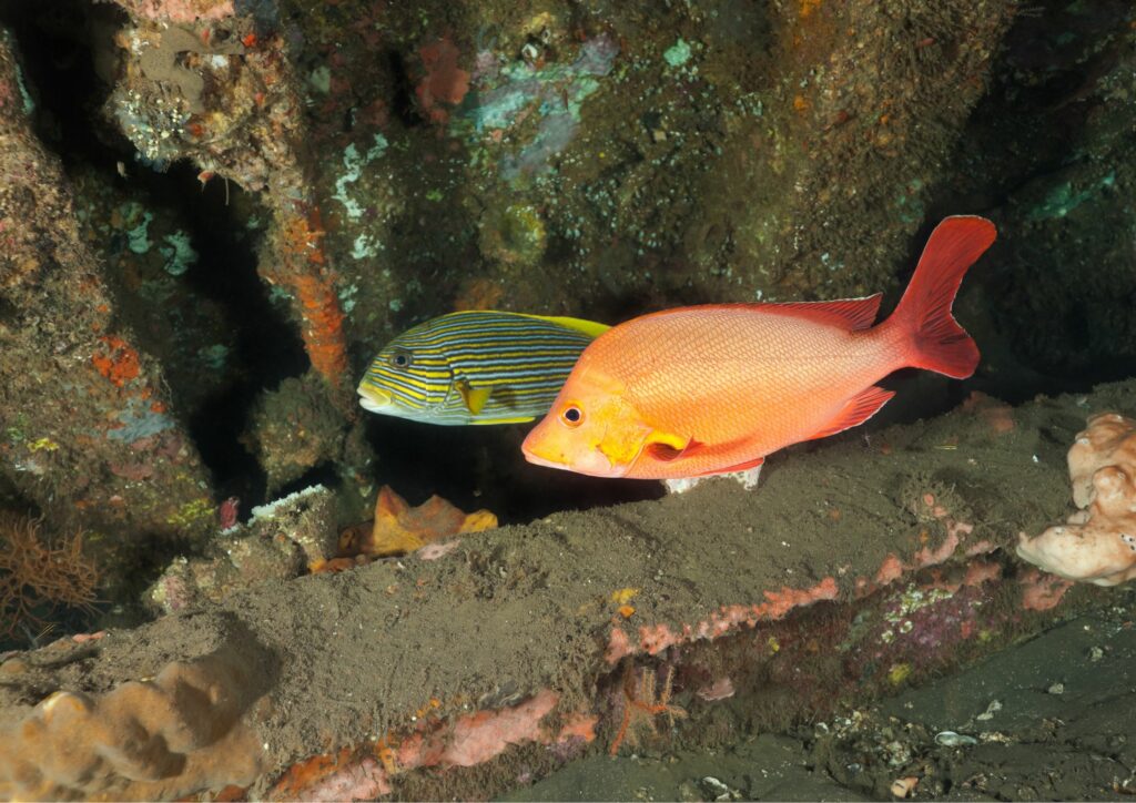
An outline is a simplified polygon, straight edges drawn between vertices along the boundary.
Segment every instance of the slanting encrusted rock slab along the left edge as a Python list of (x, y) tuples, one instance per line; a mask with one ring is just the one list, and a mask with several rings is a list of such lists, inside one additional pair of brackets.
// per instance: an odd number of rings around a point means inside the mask
[(142, 533), (204, 538), (214, 522), (208, 475), (161, 366), (118, 321), (59, 160), (32, 131), (8, 42), (0, 40), (0, 471), (52, 524), (114, 533), (89, 543), (120, 567), (115, 551)]

